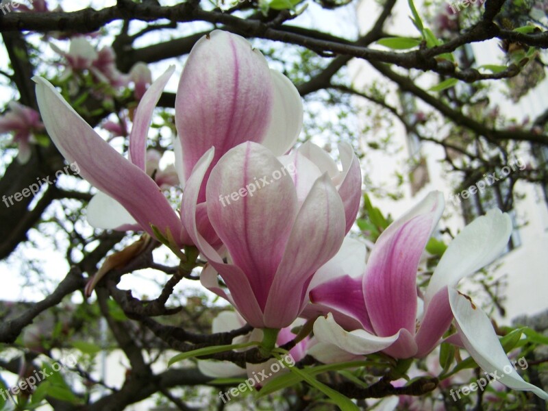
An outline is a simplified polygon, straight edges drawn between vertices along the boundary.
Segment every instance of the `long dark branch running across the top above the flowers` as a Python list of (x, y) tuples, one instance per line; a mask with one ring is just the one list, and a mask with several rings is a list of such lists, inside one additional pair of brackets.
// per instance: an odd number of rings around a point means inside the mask
[[(493, 0), (486, 2), (486, 7), (493, 3)], [(362, 58), (369, 62), (384, 62), (396, 64), (406, 69), (419, 69), (423, 71), (434, 71), (441, 75), (450, 75), (464, 82), (475, 82), (479, 79), (497, 79), (501, 75), (482, 74), (475, 70), (459, 71), (455, 64), (448, 60), (436, 60), (436, 56), (456, 50), (461, 45), (471, 42), (479, 42), (499, 36), (510, 36), (508, 32), (502, 32), (490, 18), (489, 13), (484, 14), (484, 20), (473, 26), (469, 32), (461, 34), (460, 37), (445, 45), (431, 49), (419, 49), (403, 53), (390, 51), (379, 51), (369, 49), (359, 44), (347, 44), (347, 42), (336, 42), (297, 34), (288, 31), (283, 25), (271, 27), (269, 23), (258, 20), (245, 19), (222, 12), (208, 12), (201, 10), (194, 3), (181, 3), (170, 7), (161, 7), (151, 3), (126, 3), (119, 2), (119, 5), (102, 10), (85, 9), (77, 12), (56, 12), (56, 13), (10, 13), (3, 16), (0, 22), (0, 31), (8, 32), (13, 30), (33, 30), (35, 32), (48, 32), (58, 30), (62, 32), (92, 32), (107, 23), (121, 19), (134, 19), (140, 21), (156, 21), (160, 18), (167, 18), (170, 21), (179, 23), (189, 21), (205, 21), (213, 24), (225, 25), (226, 29), (237, 34), (248, 37), (258, 37), (268, 40), (277, 40), (293, 45), (300, 45), (321, 53), (334, 53), (336, 55), (347, 55), (350, 57)], [(494, 16), (493, 16), (494, 17)], [(522, 34), (519, 39), (525, 45), (536, 47), (548, 47), (548, 34)], [(516, 67), (510, 67), (503, 77), (510, 77), (519, 73)]]

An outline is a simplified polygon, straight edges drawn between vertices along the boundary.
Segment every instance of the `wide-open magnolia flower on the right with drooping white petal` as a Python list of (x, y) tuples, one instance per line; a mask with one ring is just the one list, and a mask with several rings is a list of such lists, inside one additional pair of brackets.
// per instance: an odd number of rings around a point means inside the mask
[[(443, 206), (443, 195), (432, 192), (379, 236), (362, 277), (361, 296), (353, 288), (356, 279), (349, 276), (314, 288), (311, 301), (361, 324), (358, 329), (345, 329), (328, 314), (316, 320), (314, 335), (356, 355), (384, 351), (395, 358), (423, 357), (440, 343), (454, 318), (458, 334), (449, 341), (459, 340), (484, 371), (504, 374), (499, 381), (510, 388), (532, 390), (548, 398), (547, 393), (523, 381), (516, 372), (503, 373), (510, 361), (493, 325), (482, 310), (454, 288), (460, 279), (495, 260), (506, 247), (512, 232), (508, 214), (490, 210), (458, 234), (430, 279), (423, 297), (423, 314), (417, 315), (417, 267)], [(353, 298), (341, 299), (345, 292), (353, 292)]]

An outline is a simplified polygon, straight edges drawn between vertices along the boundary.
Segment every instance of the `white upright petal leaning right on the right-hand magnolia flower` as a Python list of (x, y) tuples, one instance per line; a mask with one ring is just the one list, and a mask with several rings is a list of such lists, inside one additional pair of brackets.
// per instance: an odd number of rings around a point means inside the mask
[(466, 225), (443, 253), (428, 284), (425, 303), (443, 287), (455, 286), (500, 256), (511, 233), (510, 216), (498, 208)]

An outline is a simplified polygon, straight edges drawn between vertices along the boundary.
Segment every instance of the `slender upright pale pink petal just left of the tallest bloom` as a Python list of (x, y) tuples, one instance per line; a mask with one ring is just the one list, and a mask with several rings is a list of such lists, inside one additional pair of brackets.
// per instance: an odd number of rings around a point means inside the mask
[(162, 91), (166, 86), (171, 75), (175, 71), (175, 66), (169, 66), (155, 82), (149, 87), (142, 96), (137, 109), (135, 110), (132, 132), (129, 134), (129, 158), (132, 163), (145, 171), (145, 158), (147, 156), (147, 136), (152, 121), (152, 114), (160, 100)]

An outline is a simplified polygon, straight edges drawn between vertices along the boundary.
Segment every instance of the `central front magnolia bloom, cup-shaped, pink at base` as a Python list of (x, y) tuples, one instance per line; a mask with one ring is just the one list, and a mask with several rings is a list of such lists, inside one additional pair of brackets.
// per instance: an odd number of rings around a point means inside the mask
[[(233, 303), (251, 326), (280, 329), (295, 321), (308, 301), (312, 275), (336, 254), (355, 221), (360, 166), (349, 145), (341, 145), (340, 153), (342, 172), (314, 145), (276, 158), (262, 145), (245, 142), (211, 171), (206, 210), (197, 201), (213, 149), (188, 179), (183, 223), (210, 263), (201, 282)], [(205, 213), (226, 246), (229, 264), (197, 231)], [(217, 273), (229, 295), (219, 287)]]

